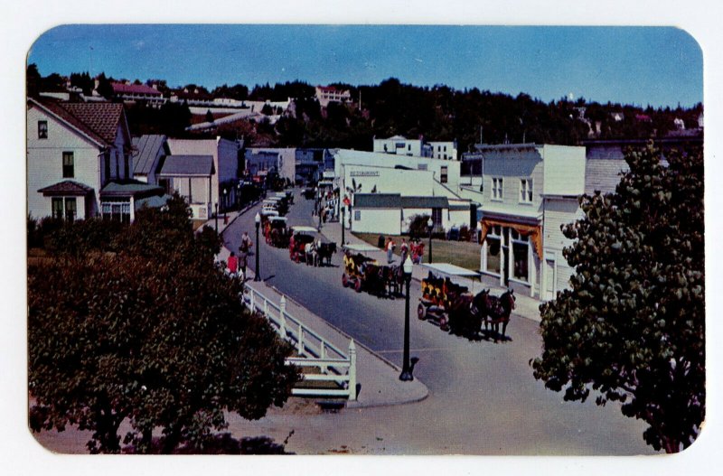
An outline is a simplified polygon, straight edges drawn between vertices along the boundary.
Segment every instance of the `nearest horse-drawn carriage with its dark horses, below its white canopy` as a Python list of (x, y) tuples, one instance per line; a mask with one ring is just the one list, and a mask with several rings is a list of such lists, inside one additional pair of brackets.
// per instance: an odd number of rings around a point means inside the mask
[[(419, 299), (417, 316), (430, 320), (442, 331), (475, 338), (482, 332), (494, 332), (494, 341), (506, 340), (505, 331), (510, 322), (515, 297), (512, 289), (500, 296), (493, 296), (486, 289), (474, 295), (465, 286), (456, 285), (449, 277), (442, 278), (430, 271), (422, 280), (422, 297)], [(502, 324), (502, 334), (500, 334)]]

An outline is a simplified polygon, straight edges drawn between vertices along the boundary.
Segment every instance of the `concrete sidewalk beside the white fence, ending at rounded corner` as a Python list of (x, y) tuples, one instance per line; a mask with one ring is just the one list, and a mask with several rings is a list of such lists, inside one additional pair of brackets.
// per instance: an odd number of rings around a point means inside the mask
[[(228, 213), (228, 223), (224, 223), (223, 218), (219, 219), (219, 233), (223, 233), (234, 219), (244, 213), (255, 213), (258, 210), (258, 204), (241, 211), (233, 211)], [(215, 219), (209, 220), (205, 226), (215, 227)], [(201, 229), (201, 228), (200, 228)], [(341, 229), (341, 228), (340, 228)], [(341, 232), (341, 231), (340, 231)], [(230, 250), (221, 247), (219, 259), (226, 260), (230, 255)], [(273, 303), (281, 301), (281, 293), (271, 285), (265, 282), (254, 282), (254, 272), (247, 268), (246, 285), (264, 294)], [(331, 342), (337, 349), (348, 351), (349, 343), (352, 338), (346, 333), (333, 327), (330, 323), (324, 321), (321, 317), (311, 313), (305, 307), (296, 303), (293, 299), (286, 296), (286, 311), (296, 317), (296, 319), (305, 323), (305, 325), (314, 329), (315, 332), (324, 337), (325, 340)], [(380, 357), (366, 348), (360, 342), (354, 342), (357, 348), (357, 382), (361, 384), (357, 401), (347, 402), (347, 408), (361, 408), (367, 406), (390, 406), (405, 403), (417, 402), (423, 400), (429, 394), (427, 386), (418, 379), (410, 382), (402, 382), (399, 380), (401, 369), (392, 364), (389, 360)]]

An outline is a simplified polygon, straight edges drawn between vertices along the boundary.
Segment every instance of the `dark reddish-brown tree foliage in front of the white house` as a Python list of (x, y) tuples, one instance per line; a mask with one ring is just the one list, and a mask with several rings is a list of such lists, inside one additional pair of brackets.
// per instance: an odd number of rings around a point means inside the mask
[[(70, 226), (83, 235), (89, 224)], [(202, 452), (225, 411), (257, 419), (284, 404), (298, 378), (285, 365), (293, 350), (239, 303), (241, 285), (213, 263), (218, 236), (193, 234), (182, 199), (140, 210), (83, 253), (63, 243), (28, 269), (33, 431), (78, 425), (93, 432), (92, 453), (121, 442)]]

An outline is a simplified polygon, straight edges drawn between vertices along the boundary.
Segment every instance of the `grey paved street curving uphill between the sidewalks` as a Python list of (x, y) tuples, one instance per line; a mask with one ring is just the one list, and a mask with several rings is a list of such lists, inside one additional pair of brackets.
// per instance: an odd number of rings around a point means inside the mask
[[(290, 224), (315, 224), (312, 201), (297, 196)], [(253, 210), (224, 233), (226, 246), (238, 249), (241, 232), (256, 243)], [(250, 257), (253, 268), (255, 257)], [(286, 249), (260, 244), (261, 275), (269, 285), (293, 297), (356, 341), (400, 364), (404, 300), (356, 294), (341, 284), (342, 257), (333, 267), (291, 262)], [(268, 435), (295, 453), (404, 454), (641, 454), (644, 425), (625, 418), (615, 405), (598, 407), (563, 402), (532, 378), (529, 360), (540, 353), (538, 323), (512, 316), (512, 341), (468, 341), (414, 317), (419, 285), (412, 283), (412, 356), (414, 371), (429, 389), (427, 399), (403, 406), (347, 409), (305, 415), (273, 411), (258, 422), (231, 418), (237, 436)], [(364, 392), (362, 382), (362, 393)]]

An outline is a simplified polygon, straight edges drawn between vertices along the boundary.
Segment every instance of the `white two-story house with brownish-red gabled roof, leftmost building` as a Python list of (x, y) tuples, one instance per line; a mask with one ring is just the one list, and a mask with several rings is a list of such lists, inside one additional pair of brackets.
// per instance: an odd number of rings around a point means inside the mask
[[(122, 104), (28, 98), (28, 213), (132, 221), (163, 190), (133, 178), (133, 154)], [(157, 200), (156, 200), (157, 202)]]

